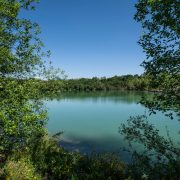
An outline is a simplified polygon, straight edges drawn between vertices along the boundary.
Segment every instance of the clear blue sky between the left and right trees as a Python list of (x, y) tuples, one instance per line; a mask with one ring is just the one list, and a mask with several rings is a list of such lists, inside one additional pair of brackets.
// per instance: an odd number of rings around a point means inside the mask
[(136, 0), (41, 0), (40, 24), (51, 60), (69, 78), (141, 74), (145, 55), (133, 19)]

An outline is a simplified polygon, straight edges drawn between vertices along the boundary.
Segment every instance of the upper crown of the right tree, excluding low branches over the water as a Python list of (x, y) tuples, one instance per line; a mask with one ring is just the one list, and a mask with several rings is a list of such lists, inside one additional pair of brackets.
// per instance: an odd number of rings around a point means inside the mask
[[(144, 101), (153, 110), (180, 110), (180, 2), (178, 0), (139, 0), (135, 20), (143, 34), (139, 40), (147, 59), (142, 63), (151, 77), (151, 86), (161, 92), (153, 101)], [(172, 114), (169, 114), (170, 116)], [(171, 116), (172, 117), (172, 116)]]

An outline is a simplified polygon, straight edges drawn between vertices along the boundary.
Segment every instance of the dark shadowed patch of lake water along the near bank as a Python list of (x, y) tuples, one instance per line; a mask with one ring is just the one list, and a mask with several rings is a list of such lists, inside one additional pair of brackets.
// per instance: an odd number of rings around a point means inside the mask
[(104, 136), (99, 139), (75, 137), (74, 135), (62, 135), (60, 145), (66, 150), (80, 152), (82, 154), (96, 153), (118, 153), (125, 162), (130, 162), (130, 153), (125, 151), (129, 144), (117, 136)]

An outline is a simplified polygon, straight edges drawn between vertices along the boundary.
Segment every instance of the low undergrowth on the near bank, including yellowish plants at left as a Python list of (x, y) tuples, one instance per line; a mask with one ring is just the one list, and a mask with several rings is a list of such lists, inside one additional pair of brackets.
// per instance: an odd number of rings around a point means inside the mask
[(0, 178), (12, 179), (125, 179), (127, 166), (113, 154), (89, 156), (68, 152), (59, 138), (48, 135), (23, 151), (13, 151)]

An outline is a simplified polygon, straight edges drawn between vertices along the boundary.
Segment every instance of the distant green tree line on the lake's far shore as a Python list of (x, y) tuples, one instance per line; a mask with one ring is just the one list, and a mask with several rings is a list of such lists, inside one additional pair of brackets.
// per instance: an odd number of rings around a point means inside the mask
[(116, 91), (116, 90), (140, 90), (156, 91), (149, 84), (150, 77), (144, 75), (123, 75), (110, 78), (93, 77), (66, 80), (35, 80), (40, 84), (41, 93), (53, 92), (91, 92), (91, 91)]

